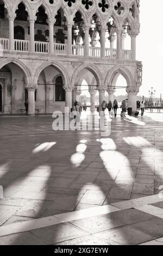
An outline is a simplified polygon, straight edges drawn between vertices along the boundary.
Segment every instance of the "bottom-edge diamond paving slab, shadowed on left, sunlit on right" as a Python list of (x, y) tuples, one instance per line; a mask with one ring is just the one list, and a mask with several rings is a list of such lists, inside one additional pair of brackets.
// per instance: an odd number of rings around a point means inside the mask
[(87, 235), (85, 231), (74, 227), (74, 225), (70, 223), (62, 223), (51, 227), (35, 229), (32, 230), (31, 233), (48, 243), (48, 245)]

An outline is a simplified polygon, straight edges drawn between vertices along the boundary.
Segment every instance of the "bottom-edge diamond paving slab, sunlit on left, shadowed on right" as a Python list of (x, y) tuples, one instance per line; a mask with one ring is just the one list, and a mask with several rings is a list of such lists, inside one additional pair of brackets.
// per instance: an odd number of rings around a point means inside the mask
[(106, 230), (96, 236), (110, 245), (137, 245), (155, 238), (130, 226)]

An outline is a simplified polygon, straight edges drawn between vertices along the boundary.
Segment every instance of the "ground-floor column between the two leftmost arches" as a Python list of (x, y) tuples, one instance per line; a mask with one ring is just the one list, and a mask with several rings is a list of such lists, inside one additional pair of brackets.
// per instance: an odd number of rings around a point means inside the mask
[(27, 85), (28, 90), (28, 115), (35, 115), (35, 90), (37, 85)]

